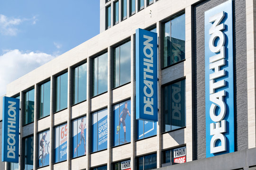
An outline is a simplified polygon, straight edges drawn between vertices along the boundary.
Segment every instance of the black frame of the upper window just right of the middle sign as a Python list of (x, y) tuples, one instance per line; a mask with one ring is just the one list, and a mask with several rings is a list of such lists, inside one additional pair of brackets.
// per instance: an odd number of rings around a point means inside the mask
[[(171, 20), (173, 20), (173, 19), (175, 19), (176, 17), (180, 17), (180, 16), (182, 16), (182, 15), (185, 15), (186, 13), (185, 13), (185, 11), (184, 10), (182, 10), (182, 11), (180, 11), (180, 12), (177, 12), (176, 14), (174, 14), (174, 15), (172, 15), (171, 17), (168, 17), (168, 18), (165, 18), (165, 19), (163, 19), (162, 21), (160, 21), (161, 22), (161, 30), (160, 30), (160, 32), (161, 32), (161, 34), (159, 34), (159, 36), (161, 36), (162, 38), (161, 38), (161, 49), (160, 49), (160, 52), (161, 52), (161, 70), (163, 70), (163, 69), (165, 69), (165, 68), (169, 68), (169, 67), (172, 67), (172, 66), (174, 66), (174, 65), (176, 65), (176, 64), (179, 64), (179, 63), (181, 63), (181, 62), (183, 62), (183, 61), (185, 61), (186, 60), (186, 56), (185, 56), (185, 58), (184, 59), (182, 59), (182, 60), (180, 60), (180, 61), (178, 61), (178, 62), (175, 62), (175, 63), (173, 63), (173, 64), (170, 64), (170, 65), (167, 65), (167, 66), (164, 66), (164, 28), (165, 28), (165, 23), (167, 23), (167, 22), (171, 22)], [(185, 30), (186, 31), (186, 30)], [(185, 33), (186, 34), (186, 33)]]

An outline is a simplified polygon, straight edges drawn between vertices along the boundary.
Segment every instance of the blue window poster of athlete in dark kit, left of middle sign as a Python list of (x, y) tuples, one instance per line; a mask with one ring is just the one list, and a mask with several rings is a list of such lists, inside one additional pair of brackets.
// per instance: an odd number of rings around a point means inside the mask
[(113, 146), (131, 141), (131, 101), (113, 106)]

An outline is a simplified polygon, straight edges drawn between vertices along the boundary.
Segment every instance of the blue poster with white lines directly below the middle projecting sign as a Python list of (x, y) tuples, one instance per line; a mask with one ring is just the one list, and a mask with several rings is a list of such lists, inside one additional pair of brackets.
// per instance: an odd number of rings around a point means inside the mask
[(156, 123), (145, 120), (137, 120), (137, 139), (156, 135)]

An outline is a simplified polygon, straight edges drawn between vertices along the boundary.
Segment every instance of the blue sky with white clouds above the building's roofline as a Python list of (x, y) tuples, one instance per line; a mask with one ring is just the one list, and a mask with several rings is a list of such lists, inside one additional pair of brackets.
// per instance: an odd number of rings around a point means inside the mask
[(6, 85), (100, 33), (100, 0), (0, 0), (0, 96)]

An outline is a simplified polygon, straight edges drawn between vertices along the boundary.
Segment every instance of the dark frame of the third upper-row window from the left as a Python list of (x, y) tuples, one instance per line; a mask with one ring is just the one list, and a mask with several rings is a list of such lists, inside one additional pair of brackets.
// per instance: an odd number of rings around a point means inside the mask
[[(60, 112), (60, 111), (62, 111), (62, 110), (65, 110), (65, 109), (67, 109), (67, 107), (68, 107), (68, 96), (67, 96), (67, 106), (65, 107), (65, 108), (63, 108), (63, 109), (60, 109), (60, 110), (56, 110), (56, 79), (57, 79), (57, 77), (58, 76), (62, 76), (62, 75), (64, 75), (64, 74), (66, 74), (67, 73), (67, 87), (68, 87), (68, 84), (69, 84), (69, 82), (68, 82), (68, 76), (69, 76), (69, 72), (68, 72), (68, 70), (67, 69), (65, 69), (65, 70), (63, 70), (63, 71), (61, 71), (61, 72), (59, 72), (58, 74), (56, 74), (56, 75), (54, 75), (53, 76), (53, 113), (55, 114), (55, 113), (58, 113), (58, 112)], [(68, 94), (68, 91), (69, 91), (69, 88), (67, 88), (67, 94)], [(60, 103), (59, 103), (60, 104)]]

